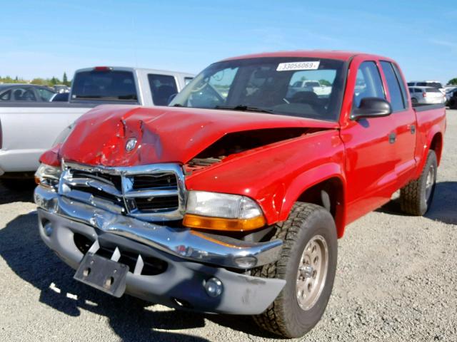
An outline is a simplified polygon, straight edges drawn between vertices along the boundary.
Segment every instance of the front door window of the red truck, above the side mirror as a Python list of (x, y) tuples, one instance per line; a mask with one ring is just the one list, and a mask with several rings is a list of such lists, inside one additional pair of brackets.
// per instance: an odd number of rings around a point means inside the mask
[(354, 89), (354, 107), (358, 107), (362, 98), (386, 98), (383, 82), (376, 63), (366, 61), (358, 67), (356, 88)]

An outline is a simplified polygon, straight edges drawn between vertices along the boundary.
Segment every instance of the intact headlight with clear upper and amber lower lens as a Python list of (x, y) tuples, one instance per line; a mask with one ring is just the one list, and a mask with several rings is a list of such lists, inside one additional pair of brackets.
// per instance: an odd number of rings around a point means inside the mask
[(263, 227), (263, 212), (251, 198), (217, 192), (191, 191), (187, 199), (186, 227), (243, 231)]

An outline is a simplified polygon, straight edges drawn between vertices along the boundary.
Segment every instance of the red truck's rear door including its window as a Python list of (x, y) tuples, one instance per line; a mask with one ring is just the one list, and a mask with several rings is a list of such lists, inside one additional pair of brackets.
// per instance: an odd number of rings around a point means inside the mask
[[(395, 172), (398, 177), (398, 187), (402, 187), (416, 167), (414, 152), (416, 149), (416, 113), (411, 108), (408, 100), (403, 77), (396, 66), (390, 61), (381, 61), (381, 68), (386, 80), (388, 99), (392, 106), (392, 118), (394, 124), (393, 134), (396, 149)], [(439, 90), (438, 90), (439, 91)]]

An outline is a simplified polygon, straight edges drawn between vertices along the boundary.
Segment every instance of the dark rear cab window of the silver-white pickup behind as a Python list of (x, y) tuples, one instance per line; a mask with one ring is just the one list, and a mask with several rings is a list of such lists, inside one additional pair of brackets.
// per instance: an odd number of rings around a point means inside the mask
[(81, 71), (76, 73), (71, 98), (136, 102), (136, 86), (131, 71)]

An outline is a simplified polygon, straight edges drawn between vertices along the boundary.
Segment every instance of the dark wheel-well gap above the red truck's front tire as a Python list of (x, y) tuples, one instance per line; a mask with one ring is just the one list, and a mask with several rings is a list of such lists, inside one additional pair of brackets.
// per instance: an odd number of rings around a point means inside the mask
[(335, 220), (338, 237), (343, 236), (344, 187), (339, 178), (332, 177), (309, 187), (298, 197), (297, 201), (318, 204), (326, 208)]

